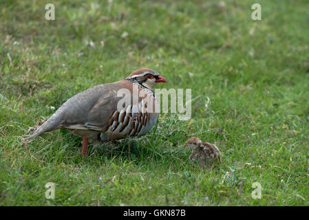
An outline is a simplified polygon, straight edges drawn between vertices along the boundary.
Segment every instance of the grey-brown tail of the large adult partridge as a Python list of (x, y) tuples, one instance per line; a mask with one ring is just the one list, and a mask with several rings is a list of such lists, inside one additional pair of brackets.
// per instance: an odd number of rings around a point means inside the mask
[[(58, 109), (61, 110), (61, 109)], [(61, 128), (63, 122), (63, 111), (56, 111), (52, 117), (50, 117), (46, 122), (39, 126), (32, 135), (26, 137), (27, 140), (33, 140), (35, 137), (45, 133), (47, 131), (53, 131)]]

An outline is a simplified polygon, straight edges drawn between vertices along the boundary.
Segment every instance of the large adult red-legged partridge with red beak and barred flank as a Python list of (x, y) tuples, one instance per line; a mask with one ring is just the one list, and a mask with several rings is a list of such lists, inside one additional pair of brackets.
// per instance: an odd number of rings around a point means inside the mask
[(28, 140), (48, 131), (69, 129), (83, 137), (82, 154), (86, 155), (89, 139), (144, 135), (158, 120), (158, 100), (153, 92), (157, 83), (167, 80), (153, 69), (138, 69), (124, 80), (82, 91), (61, 105)]

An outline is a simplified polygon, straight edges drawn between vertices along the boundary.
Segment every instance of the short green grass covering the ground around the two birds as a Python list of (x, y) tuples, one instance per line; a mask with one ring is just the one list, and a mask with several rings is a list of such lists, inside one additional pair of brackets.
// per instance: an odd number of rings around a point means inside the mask
[[(45, 20), (46, 3), (55, 21)], [(251, 19), (253, 3), (262, 21)], [(308, 6), (1, 1), (0, 205), (308, 206)], [(144, 137), (91, 144), (87, 158), (65, 130), (24, 146), (51, 107), (141, 67), (167, 78), (157, 88), (192, 89), (191, 120), (162, 113)], [(217, 144), (223, 163), (191, 166), (182, 145), (193, 135)], [(261, 199), (251, 197), (256, 181)], [(45, 199), (47, 182), (55, 199)]]

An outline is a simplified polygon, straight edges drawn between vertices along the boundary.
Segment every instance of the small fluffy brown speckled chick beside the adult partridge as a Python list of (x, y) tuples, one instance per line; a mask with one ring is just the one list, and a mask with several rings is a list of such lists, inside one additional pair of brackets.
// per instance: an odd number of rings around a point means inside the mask
[(205, 164), (209, 165), (215, 162), (216, 159), (221, 162), (222, 154), (215, 144), (202, 142), (198, 137), (190, 137), (184, 146), (188, 146), (192, 149), (192, 153), (189, 157), (192, 165), (194, 164), (194, 160), (197, 160), (202, 168), (205, 168)]

